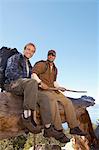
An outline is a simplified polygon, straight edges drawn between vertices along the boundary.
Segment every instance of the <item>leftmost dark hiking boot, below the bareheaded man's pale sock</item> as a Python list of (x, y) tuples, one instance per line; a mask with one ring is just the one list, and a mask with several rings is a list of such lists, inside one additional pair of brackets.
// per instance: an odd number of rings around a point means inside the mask
[(41, 126), (37, 126), (37, 125), (33, 124), (33, 122), (31, 121), (31, 117), (28, 117), (28, 118), (22, 117), (22, 121), (23, 121), (24, 127), (26, 129), (28, 129), (30, 132), (32, 132), (34, 134), (38, 134), (42, 131)]

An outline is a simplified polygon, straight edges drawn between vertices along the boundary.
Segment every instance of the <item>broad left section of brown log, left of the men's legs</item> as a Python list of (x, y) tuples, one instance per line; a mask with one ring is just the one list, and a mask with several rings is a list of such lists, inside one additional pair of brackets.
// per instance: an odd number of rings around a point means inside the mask
[(23, 133), (22, 111), (22, 97), (0, 93), (0, 139)]

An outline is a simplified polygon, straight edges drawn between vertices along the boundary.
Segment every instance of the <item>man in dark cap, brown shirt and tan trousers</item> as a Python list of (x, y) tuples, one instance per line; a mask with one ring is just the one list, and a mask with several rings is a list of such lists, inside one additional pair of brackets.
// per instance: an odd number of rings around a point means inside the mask
[[(55, 58), (55, 50), (49, 50), (47, 54), (47, 60), (39, 61), (34, 65), (32, 70), (32, 78), (34, 78), (38, 82), (40, 88), (39, 91), (43, 95), (47, 95), (49, 97), (52, 120), (55, 128), (60, 131), (62, 131), (63, 129), (58, 107), (59, 101), (64, 107), (66, 120), (68, 126), (70, 127), (70, 133), (77, 135), (85, 135), (85, 133), (82, 132), (78, 127), (76, 113), (71, 100), (69, 100), (60, 92), (64, 92), (66, 89), (60, 87), (56, 81), (57, 68), (54, 64)], [(50, 90), (51, 88), (58, 88), (60, 91)], [(44, 136), (47, 137), (47, 133), (44, 133)]]

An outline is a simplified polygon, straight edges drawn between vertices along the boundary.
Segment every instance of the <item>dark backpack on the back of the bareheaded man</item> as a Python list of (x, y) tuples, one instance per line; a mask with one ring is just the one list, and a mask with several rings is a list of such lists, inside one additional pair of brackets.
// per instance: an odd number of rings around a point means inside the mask
[(19, 53), (16, 48), (8, 48), (8, 47), (2, 47), (0, 49), (0, 88), (1, 91), (4, 89), (4, 82), (5, 82), (5, 69), (7, 66), (7, 60), (12, 55)]

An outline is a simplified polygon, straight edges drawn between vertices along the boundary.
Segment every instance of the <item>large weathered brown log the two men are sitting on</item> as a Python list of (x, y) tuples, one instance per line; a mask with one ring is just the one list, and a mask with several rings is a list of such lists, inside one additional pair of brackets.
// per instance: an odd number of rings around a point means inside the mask
[[(70, 97), (69, 97), (70, 98)], [(95, 100), (91, 97), (70, 98), (75, 107), (80, 128), (86, 131), (90, 140), (95, 138), (90, 116), (86, 107), (93, 106)], [(66, 122), (63, 106), (59, 103), (62, 123)], [(23, 113), (23, 97), (8, 92), (0, 92), (0, 139), (18, 136), (24, 133), (21, 114)], [(39, 107), (37, 108), (37, 120), (42, 124)], [(93, 139), (92, 139), (93, 138)]]

